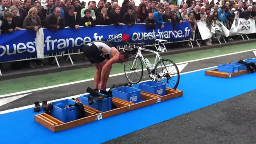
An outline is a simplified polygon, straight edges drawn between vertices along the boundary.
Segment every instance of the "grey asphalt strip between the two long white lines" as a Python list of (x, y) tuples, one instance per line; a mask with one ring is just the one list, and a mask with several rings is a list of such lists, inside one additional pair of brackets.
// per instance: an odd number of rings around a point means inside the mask
[[(238, 53), (235, 55), (230, 56), (223, 56), (213, 59), (206, 59), (201, 61), (190, 62), (187, 66), (181, 71), (182, 72), (189, 72), (197, 69), (203, 69), (207, 67), (214, 67), (218, 64), (228, 63), (231, 61), (238, 61), (240, 59), (248, 59), (255, 57), (253, 52), (245, 52), (245, 53)], [(144, 72), (144, 77), (142, 80), (148, 80), (147, 72)], [(124, 75), (119, 75), (115, 77), (109, 77), (107, 88), (110, 88), (114, 83), (127, 83), (128, 81), (125, 79)], [(17, 99), (12, 101), (8, 104), (5, 104), (0, 107), (0, 111), (13, 109), (17, 107), (24, 107), (27, 105), (34, 104), (35, 101), (51, 101), (55, 99), (61, 99), (69, 96), (75, 96), (82, 93), (87, 93), (87, 87), (93, 88), (93, 81), (87, 81), (85, 83), (77, 83), (73, 85), (61, 86), (57, 88), (50, 88), (41, 91), (35, 91), (29, 94), (28, 96), (24, 96), (21, 99)]]

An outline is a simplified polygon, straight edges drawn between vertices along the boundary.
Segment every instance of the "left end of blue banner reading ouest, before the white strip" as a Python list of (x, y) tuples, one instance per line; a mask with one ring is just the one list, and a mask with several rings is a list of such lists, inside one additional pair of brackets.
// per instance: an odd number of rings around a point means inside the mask
[(0, 62), (36, 56), (36, 32), (20, 30), (0, 35)]

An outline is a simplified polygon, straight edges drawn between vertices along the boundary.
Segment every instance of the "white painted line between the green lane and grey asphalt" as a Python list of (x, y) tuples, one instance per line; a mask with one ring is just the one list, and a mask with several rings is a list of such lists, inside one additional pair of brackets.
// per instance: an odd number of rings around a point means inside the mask
[[(202, 59), (195, 59), (195, 60), (191, 60), (191, 61), (184, 61), (184, 62), (177, 63), (177, 65), (190, 63), (190, 62), (194, 62), (194, 61), (201, 61), (201, 60), (205, 60), (205, 59), (213, 59), (213, 58), (218, 58), (218, 57), (222, 57), (222, 56), (229, 56), (229, 55), (234, 55), (234, 54), (238, 54), (238, 53), (245, 53), (245, 52), (249, 52), (249, 51), (256, 51), (256, 49), (247, 50), (247, 51), (240, 51), (240, 52), (235, 52), (235, 53), (228, 53), (228, 54), (223, 54), (223, 55), (219, 55), (219, 56), (211, 56), (211, 57), (202, 58)], [(115, 76), (118, 76), (118, 75), (124, 75), (124, 72), (119, 73), (119, 74), (109, 75), (109, 77), (115, 77)], [(59, 85), (51, 85), (51, 86), (44, 87), (44, 88), (35, 88), (35, 89), (32, 89), (32, 90), (20, 91), (20, 92), (16, 92), (16, 93), (4, 94), (4, 95), (0, 95), (0, 99), (8, 97), (8, 96), (14, 96), (14, 95), (24, 94), (24, 93), (31, 93), (31, 92), (34, 92), (34, 91), (40, 91), (40, 90), (45, 90), (45, 89), (49, 89), (49, 88), (57, 88), (57, 87), (65, 86), (65, 85), (73, 85), (73, 84), (76, 84), (76, 83), (83, 83), (83, 82), (87, 82), (87, 81), (91, 81), (91, 80), (94, 80), (94, 78), (86, 79), (86, 80), (79, 80), (79, 81), (75, 81), (75, 82), (71, 82), (71, 83), (63, 83), (63, 84), (59, 84)]]

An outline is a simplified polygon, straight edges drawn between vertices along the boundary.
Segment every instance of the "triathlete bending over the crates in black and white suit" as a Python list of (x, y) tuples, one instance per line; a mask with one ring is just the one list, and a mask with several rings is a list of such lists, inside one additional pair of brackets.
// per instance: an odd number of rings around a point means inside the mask
[(96, 67), (94, 74), (94, 90), (100, 91), (100, 93), (103, 94), (106, 93), (107, 80), (112, 64), (128, 61), (128, 53), (124, 51), (119, 52), (113, 45), (102, 40), (97, 40), (85, 45), (83, 53), (91, 64)]

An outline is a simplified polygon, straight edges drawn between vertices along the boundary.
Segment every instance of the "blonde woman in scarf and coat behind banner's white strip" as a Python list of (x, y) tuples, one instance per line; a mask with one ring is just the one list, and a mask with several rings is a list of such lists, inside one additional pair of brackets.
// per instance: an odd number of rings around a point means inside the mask
[[(28, 16), (25, 17), (23, 22), (23, 28), (28, 30), (38, 31), (42, 27), (39, 16), (37, 16), (37, 9), (32, 7), (28, 12)], [(29, 61), (29, 67), (32, 69), (42, 67), (43, 64), (40, 60)]]

